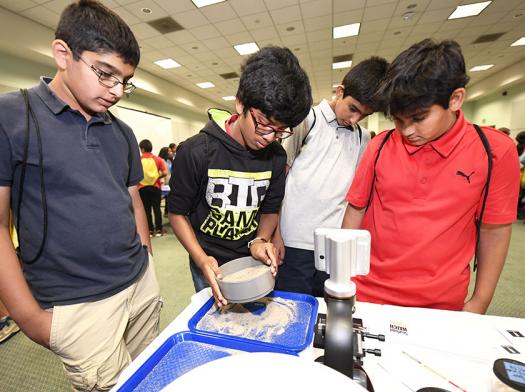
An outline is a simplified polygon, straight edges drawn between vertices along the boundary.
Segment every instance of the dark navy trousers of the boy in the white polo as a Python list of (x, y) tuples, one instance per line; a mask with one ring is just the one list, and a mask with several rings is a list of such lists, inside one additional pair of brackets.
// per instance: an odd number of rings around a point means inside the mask
[(329, 275), (315, 269), (314, 258), (313, 250), (285, 246), (283, 265), (279, 267), (275, 289), (322, 297), (324, 281)]

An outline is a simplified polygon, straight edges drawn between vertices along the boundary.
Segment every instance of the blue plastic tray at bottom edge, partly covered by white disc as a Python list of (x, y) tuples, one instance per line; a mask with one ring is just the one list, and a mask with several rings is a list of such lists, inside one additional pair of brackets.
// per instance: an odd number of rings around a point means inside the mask
[(230, 356), (233, 350), (297, 355), (275, 347), (183, 331), (168, 338), (118, 392), (160, 391), (184, 373), (215, 359)]

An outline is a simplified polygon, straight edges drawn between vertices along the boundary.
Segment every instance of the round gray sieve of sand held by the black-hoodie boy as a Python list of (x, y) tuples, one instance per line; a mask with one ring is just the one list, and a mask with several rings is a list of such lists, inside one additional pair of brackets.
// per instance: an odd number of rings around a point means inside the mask
[(242, 304), (258, 300), (275, 286), (270, 266), (251, 256), (229, 261), (220, 270), (222, 278), (217, 279), (217, 283), (228, 302)]

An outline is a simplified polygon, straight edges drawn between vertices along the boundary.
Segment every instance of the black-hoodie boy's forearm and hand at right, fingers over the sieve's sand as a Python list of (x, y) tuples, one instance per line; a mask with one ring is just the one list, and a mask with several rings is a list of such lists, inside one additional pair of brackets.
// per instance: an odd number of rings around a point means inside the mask
[(250, 253), (252, 257), (257, 260), (271, 265), (272, 275), (277, 275), (277, 250), (270, 239), (279, 223), (279, 214), (261, 214), (259, 227), (257, 229), (256, 238), (263, 240), (255, 240), (250, 246)]

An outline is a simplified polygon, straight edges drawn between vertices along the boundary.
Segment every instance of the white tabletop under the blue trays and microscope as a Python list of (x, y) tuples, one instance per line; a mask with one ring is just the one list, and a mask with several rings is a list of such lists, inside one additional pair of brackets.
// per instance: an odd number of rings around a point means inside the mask
[[(189, 319), (210, 295), (209, 289), (195, 294), (177, 318), (122, 372), (113, 391), (118, 390), (170, 336), (188, 330)], [(318, 300), (319, 312), (325, 313), (324, 300)], [(522, 318), (362, 302), (356, 304), (354, 317), (362, 318), (369, 332), (386, 336), (385, 342), (375, 339), (364, 342), (366, 348), (382, 350), (381, 357), (367, 354), (364, 358), (364, 368), (377, 392), (416, 391), (424, 386), (489, 392), (495, 359), (506, 357), (525, 362), (525, 338), (513, 338), (505, 332), (517, 330), (525, 335), (525, 319)], [(521, 354), (510, 354), (502, 346), (513, 346)], [(314, 360), (322, 352), (310, 346), (299, 355)], [(455, 388), (443, 376), (461, 388)]]

